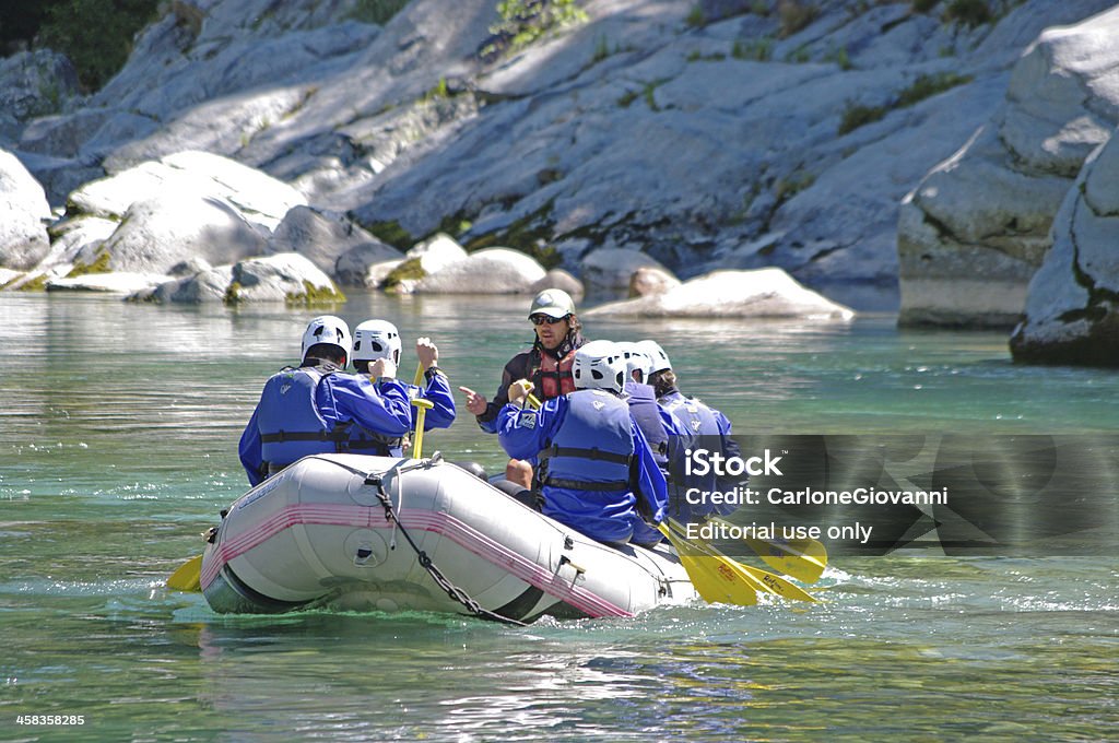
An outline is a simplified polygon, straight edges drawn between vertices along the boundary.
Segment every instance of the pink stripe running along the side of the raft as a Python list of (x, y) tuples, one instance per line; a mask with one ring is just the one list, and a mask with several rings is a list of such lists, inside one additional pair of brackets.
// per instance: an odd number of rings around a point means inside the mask
[[(591, 617), (633, 615), (586, 589), (572, 585), (570, 581), (548, 572), (543, 566), (448, 514), (405, 510), (401, 516), (401, 521), (408, 529), (420, 529), (445, 536), (467, 552), (507, 570), (515, 577), (536, 586), (548, 595), (561, 599)], [(223, 542), (216, 547), (209, 559), (206, 561), (206, 568), (201, 575), (203, 585), (208, 587), (226, 563), (297, 525), (392, 528), (392, 525), (385, 519), (384, 510), (379, 507), (305, 504), (286, 506), (255, 528)]]

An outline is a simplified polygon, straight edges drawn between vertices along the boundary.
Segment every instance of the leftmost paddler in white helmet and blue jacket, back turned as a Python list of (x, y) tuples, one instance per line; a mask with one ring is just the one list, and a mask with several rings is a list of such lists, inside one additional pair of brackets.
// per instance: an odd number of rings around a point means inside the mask
[(298, 368), (284, 367), (264, 384), (241, 434), (238, 453), (250, 485), (303, 457), (348, 451), (355, 427), (398, 439), (412, 423), (407, 389), (394, 378), (391, 359), (370, 365), (376, 382), (342, 370), (350, 335), (340, 318), (311, 320), (301, 350)]

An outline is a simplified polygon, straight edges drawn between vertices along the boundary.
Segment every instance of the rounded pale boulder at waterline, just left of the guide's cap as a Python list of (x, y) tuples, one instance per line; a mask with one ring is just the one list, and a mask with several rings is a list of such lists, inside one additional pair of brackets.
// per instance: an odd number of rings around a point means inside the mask
[(416, 282), (417, 294), (527, 294), (545, 276), (535, 258), (491, 247), (449, 263)]

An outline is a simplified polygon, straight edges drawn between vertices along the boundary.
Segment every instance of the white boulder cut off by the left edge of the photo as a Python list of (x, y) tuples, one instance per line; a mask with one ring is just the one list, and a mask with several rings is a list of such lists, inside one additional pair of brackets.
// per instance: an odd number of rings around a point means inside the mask
[(38, 181), (0, 150), (0, 266), (26, 271), (50, 250), (45, 219), (50, 205)]

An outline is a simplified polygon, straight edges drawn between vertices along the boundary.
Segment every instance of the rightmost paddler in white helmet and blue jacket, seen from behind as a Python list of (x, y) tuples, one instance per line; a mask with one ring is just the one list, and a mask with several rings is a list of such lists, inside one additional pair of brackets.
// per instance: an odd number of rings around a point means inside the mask
[(686, 474), (685, 460), (687, 451), (696, 448), (706, 448), (712, 453), (717, 451), (727, 459), (741, 457), (739, 442), (732, 438), (730, 420), (714, 407), (680, 393), (668, 354), (657, 341), (639, 341), (638, 348), (651, 360), (648, 383), (657, 395), (657, 403), (674, 422), (667, 426), (668, 515), (681, 523), (702, 523), (711, 516), (728, 516), (739, 508), (736, 504), (717, 504), (702, 497), (702, 502), (688, 502), (687, 492), (695, 489), (693, 499), (696, 499), (696, 493), (730, 491), (736, 486), (745, 487), (749, 476), (720, 478), (714, 473), (714, 468), (703, 476)]

